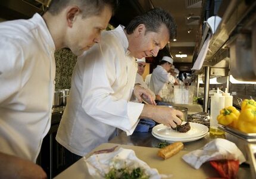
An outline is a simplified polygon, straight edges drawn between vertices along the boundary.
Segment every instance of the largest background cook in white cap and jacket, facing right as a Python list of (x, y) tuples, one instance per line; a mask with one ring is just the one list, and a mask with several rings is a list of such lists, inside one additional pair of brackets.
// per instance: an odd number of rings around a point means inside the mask
[(167, 97), (170, 95), (168, 83), (173, 84), (175, 82), (175, 78), (168, 73), (172, 65), (173, 59), (170, 56), (163, 56), (160, 65), (157, 65), (152, 72), (149, 89), (152, 90), (155, 95), (161, 97), (162, 100), (160, 102), (169, 102), (167, 100)]

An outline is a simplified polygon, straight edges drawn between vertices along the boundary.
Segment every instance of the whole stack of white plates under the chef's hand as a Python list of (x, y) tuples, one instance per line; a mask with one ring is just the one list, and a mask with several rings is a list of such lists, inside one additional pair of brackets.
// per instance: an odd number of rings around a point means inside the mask
[[(183, 122), (182, 124), (185, 124)], [(155, 125), (152, 128), (152, 135), (159, 140), (163, 140), (169, 143), (172, 142), (191, 142), (194, 140), (201, 139), (208, 133), (208, 127), (203, 124), (191, 123), (191, 130), (186, 133), (180, 133), (179, 131), (173, 130), (164, 124)]]

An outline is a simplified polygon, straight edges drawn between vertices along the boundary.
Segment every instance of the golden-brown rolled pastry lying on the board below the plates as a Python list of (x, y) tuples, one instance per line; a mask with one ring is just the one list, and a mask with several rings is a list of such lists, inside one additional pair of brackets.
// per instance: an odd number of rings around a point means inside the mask
[(182, 142), (174, 142), (171, 145), (164, 147), (163, 149), (158, 150), (157, 155), (163, 159), (170, 158), (176, 153), (180, 152), (184, 147)]

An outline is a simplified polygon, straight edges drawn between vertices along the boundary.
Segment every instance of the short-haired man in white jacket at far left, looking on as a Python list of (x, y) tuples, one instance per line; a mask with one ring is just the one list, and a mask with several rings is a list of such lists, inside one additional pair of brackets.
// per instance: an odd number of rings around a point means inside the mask
[(0, 23), (0, 178), (46, 178), (35, 162), (51, 125), (54, 52), (98, 43), (116, 4), (52, 0), (43, 16)]

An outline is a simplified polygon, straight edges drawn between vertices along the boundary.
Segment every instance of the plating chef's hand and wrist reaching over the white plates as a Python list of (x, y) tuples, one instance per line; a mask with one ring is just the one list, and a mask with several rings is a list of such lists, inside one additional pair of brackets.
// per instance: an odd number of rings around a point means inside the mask
[(182, 124), (183, 113), (168, 106), (144, 105), (140, 118), (150, 118), (167, 127), (176, 127)]

